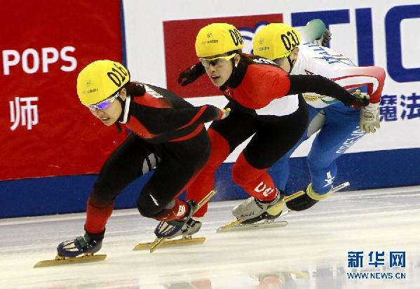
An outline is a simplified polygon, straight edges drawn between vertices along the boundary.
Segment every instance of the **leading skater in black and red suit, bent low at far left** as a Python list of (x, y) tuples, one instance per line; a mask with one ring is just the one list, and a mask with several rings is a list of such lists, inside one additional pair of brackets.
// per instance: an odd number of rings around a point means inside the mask
[[(153, 168), (137, 208), (144, 217), (161, 221), (158, 237), (194, 234), (200, 222), (191, 219), (194, 202), (177, 196), (208, 161), (210, 140), (203, 123), (225, 118), (229, 111), (212, 105), (194, 107), (163, 88), (130, 81), (118, 62), (98, 60), (82, 69), (77, 93), (83, 105), (105, 126), (123, 124), (132, 131), (100, 170), (86, 208), (84, 236), (58, 245), (58, 255), (96, 253), (116, 196)], [(121, 128), (120, 128), (121, 130)]]

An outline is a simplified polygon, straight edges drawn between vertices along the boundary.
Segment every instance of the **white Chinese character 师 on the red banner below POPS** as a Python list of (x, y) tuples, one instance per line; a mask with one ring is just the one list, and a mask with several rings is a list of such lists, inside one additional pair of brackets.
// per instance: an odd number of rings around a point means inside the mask
[(38, 124), (38, 106), (32, 102), (38, 101), (37, 96), (20, 98), (15, 97), (15, 101), (10, 101), (11, 108), (11, 130), (15, 130), (19, 125), (26, 126), (27, 130), (32, 130), (32, 126)]

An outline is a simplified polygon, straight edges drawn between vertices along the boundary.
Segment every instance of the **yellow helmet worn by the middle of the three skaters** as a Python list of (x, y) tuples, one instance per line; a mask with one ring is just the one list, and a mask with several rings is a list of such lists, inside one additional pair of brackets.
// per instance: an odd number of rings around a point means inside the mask
[(199, 58), (219, 55), (243, 48), (241, 32), (231, 24), (212, 23), (200, 29), (196, 38)]

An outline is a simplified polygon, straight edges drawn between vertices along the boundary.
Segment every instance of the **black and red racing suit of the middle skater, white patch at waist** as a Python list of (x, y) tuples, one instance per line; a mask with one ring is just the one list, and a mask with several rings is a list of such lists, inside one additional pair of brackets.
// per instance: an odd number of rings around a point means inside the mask
[[(251, 136), (233, 165), (232, 179), (257, 199), (274, 199), (276, 188), (266, 170), (292, 149), (306, 129), (308, 110), (301, 93), (329, 95), (346, 105), (354, 100), (348, 91), (323, 76), (288, 75), (275, 62), (243, 54), (220, 89), (229, 100), (226, 107), (231, 113), (210, 126), (210, 159), (187, 189), (187, 199), (203, 199), (214, 187), (215, 170)], [(206, 210), (203, 206), (195, 216), (204, 215)]]

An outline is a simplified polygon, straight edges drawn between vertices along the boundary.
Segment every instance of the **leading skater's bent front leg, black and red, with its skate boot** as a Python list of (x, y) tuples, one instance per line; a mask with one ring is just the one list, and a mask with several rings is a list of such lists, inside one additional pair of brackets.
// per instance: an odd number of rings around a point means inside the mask
[(58, 254), (76, 257), (100, 250), (105, 225), (114, 208), (114, 199), (130, 182), (149, 172), (157, 162), (158, 156), (153, 147), (135, 135), (128, 136), (104, 163), (90, 193), (86, 209), (86, 234), (60, 243), (57, 246)]

